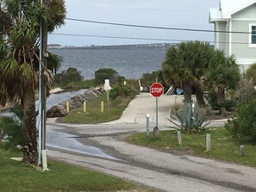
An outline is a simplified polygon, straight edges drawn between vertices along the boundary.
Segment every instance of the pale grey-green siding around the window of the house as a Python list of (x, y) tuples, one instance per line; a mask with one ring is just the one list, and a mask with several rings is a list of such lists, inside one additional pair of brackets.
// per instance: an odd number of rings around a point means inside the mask
[[(256, 12), (255, 12), (256, 13)], [(256, 14), (255, 14), (256, 15)], [(232, 21), (233, 32), (249, 32), (249, 24), (256, 21)], [(237, 59), (241, 58), (253, 58), (256, 60), (256, 47), (249, 47), (249, 35), (250, 34), (232, 34), (232, 49), (231, 53), (235, 55)]]

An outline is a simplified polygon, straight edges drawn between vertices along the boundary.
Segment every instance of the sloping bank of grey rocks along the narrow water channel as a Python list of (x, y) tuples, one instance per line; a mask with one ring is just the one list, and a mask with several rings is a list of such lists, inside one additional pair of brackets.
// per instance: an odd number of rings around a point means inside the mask
[(47, 118), (64, 117), (67, 114), (66, 102), (69, 102), (69, 110), (81, 107), (84, 102), (89, 102), (91, 99), (103, 93), (102, 88), (91, 88), (85, 90), (83, 94), (73, 96), (65, 102), (60, 102), (58, 105), (53, 106), (47, 110)]

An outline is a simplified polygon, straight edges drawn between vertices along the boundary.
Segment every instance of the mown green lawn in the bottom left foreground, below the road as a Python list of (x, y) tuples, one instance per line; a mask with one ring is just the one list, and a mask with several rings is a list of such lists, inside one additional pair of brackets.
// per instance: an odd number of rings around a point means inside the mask
[(132, 183), (102, 173), (50, 160), (48, 171), (35, 169), (10, 157), (21, 157), (21, 153), (0, 148), (1, 191), (117, 191), (143, 189)]

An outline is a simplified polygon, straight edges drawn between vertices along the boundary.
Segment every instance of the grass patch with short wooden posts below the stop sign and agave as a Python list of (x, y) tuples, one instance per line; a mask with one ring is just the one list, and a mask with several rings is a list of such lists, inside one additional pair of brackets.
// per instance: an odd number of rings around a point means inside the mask
[[(209, 152), (205, 152), (206, 133), (211, 133), (211, 150)], [(256, 167), (256, 146), (233, 139), (224, 128), (209, 129), (201, 133), (182, 133), (182, 146), (178, 146), (177, 134), (174, 131), (160, 132), (159, 139), (152, 139), (152, 135), (147, 138), (146, 133), (136, 133), (126, 139), (129, 143), (165, 152), (179, 151), (203, 158), (215, 158)], [(240, 145), (246, 147), (245, 157), (240, 156)]]

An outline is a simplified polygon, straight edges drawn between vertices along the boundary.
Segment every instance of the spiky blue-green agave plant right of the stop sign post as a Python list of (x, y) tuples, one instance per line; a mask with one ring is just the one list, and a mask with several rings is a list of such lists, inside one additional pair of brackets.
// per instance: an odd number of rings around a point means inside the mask
[[(184, 102), (182, 111), (175, 111), (172, 109), (170, 114), (171, 119), (168, 121), (178, 126), (178, 129), (189, 132), (199, 132), (206, 129), (210, 122), (207, 121), (206, 116), (202, 116), (199, 113), (197, 102)], [(178, 125), (175, 121), (178, 121)]]

